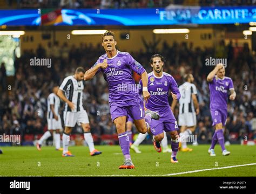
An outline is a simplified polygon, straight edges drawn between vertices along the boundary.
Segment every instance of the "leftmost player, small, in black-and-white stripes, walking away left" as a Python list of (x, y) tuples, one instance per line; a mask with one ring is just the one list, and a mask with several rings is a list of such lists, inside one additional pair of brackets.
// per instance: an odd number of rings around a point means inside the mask
[[(53, 87), (52, 93), (47, 98), (48, 131), (46, 131), (44, 135), (40, 138), (40, 140), (37, 142), (36, 147), (38, 151), (41, 150), (43, 141), (47, 140), (50, 136), (53, 136), (56, 150), (62, 151), (62, 148), (60, 148), (60, 129), (62, 129), (62, 120), (59, 116), (60, 100), (57, 96), (58, 89), (58, 86)], [(53, 130), (55, 130), (54, 134)]]

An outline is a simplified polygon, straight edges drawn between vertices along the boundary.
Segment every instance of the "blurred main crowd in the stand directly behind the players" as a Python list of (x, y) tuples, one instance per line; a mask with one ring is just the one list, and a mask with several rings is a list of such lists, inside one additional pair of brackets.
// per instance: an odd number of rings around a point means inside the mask
[[(226, 138), (239, 141), (249, 133), (250, 138), (256, 138), (256, 131), (252, 129), (252, 119), (256, 117), (256, 93), (255, 71), (256, 55), (248, 48), (247, 44), (239, 47), (232, 41), (225, 45), (220, 41), (214, 48), (194, 48), (193, 44), (173, 43), (163, 44), (163, 49), (157, 49), (157, 44), (147, 43), (144, 40), (146, 51), (131, 52), (134, 59), (139, 61), (151, 72), (149, 59), (152, 54), (160, 53), (166, 57), (164, 71), (173, 75), (178, 85), (181, 85), (186, 73), (194, 75), (194, 84), (198, 90), (200, 114), (197, 116), (198, 126), (196, 133), (198, 141), (208, 143), (211, 141), (213, 128), (209, 109), (209, 90), (206, 76), (213, 66), (207, 66), (205, 59), (210, 57), (227, 58), (226, 76), (234, 81), (237, 98), (228, 103), (228, 118)], [(6, 81), (6, 70), (1, 65), (0, 72), (0, 134), (42, 134), (47, 130), (46, 107), (47, 97), (54, 85), (60, 85), (62, 80), (72, 74), (76, 67), (83, 66), (89, 69), (98, 57), (104, 53), (100, 44), (80, 43), (78, 47), (58, 42), (48, 44), (47, 47), (38, 45), (35, 51), (25, 50), (20, 58), (15, 60), (15, 84), (9, 86)], [(30, 66), (31, 58), (51, 58), (51, 68), (47, 66)], [(138, 79), (137, 79), (138, 81)], [(108, 89), (106, 82), (99, 73), (95, 79), (86, 81), (83, 92), (84, 108), (90, 118), (93, 134), (114, 134), (116, 129), (111, 121), (108, 105)], [(171, 103), (170, 98), (170, 103)], [(62, 104), (62, 110), (63, 110)], [(60, 111), (62, 115), (62, 111)], [(178, 107), (174, 111), (178, 118)], [(135, 128), (133, 129), (136, 131)], [(82, 129), (76, 127), (73, 133), (82, 133)], [(235, 133), (231, 137), (228, 133)]]

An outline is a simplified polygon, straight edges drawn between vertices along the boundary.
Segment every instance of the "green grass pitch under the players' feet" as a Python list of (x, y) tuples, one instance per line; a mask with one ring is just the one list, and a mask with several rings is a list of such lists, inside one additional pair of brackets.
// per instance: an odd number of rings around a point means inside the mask
[[(170, 163), (170, 153), (157, 153), (153, 145), (141, 145), (142, 154), (131, 150), (135, 169), (119, 170), (123, 155), (117, 145), (102, 145), (96, 148), (100, 156), (90, 156), (87, 147), (69, 147), (75, 157), (62, 157), (61, 151), (53, 147), (2, 147), (0, 155), (1, 176), (163, 176), (179, 172), (213, 169), (256, 163), (256, 147), (230, 145), (230, 156), (222, 156), (220, 146), (215, 148), (217, 156), (207, 153), (209, 145), (192, 147), (190, 153), (179, 152), (179, 163)], [(174, 176), (256, 176), (256, 165), (218, 169)]]

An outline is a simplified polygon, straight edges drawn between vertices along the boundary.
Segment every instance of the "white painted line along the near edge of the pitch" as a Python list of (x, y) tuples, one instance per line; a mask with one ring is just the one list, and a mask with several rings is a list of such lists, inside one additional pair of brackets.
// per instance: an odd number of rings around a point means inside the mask
[[(201, 169), (201, 170), (193, 170), (193, 171), (186, 171), (186, 172), (178, 172), (178, 173), (172, 173), (172, 174), (167, 174), (167, 175), (55, 175), (55, 177), (176, 176), (176, 175), (191, 174), (194, 172), (203, 172), (203, 171), (209, 171), (209, 170), (220, 170), (220, 169), (229, 169), (229, 168), (236, 168), (236, 167), (245, 167), (248, 165), (256, 165), (256, 163), (233, 165), (233, 166), (228, 166), (228, 167), (219, 167), (219, 168), (212, 168), (212, 169)], [(38, 176), (38, 175), (36, 175), (36, 176)], [(2, 177), (2, 176), (0, 176), (0, 177)], [(32, 176), (30, 175), (28, 177), (33, 177), (33, 175)]]

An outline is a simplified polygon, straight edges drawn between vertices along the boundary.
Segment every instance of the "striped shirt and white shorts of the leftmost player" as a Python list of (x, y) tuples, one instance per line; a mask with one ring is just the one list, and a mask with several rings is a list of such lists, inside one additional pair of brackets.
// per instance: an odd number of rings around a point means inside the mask
[[(54, 118), (50, 105), (53, 105), (54, 112), (58, 116), (58, 121)], [(49, 130), (62, 129), (62, 122), (59, 115), (59, 106), (59, 97), (55, 93), (51, 93), (47, 98), (47, 123)]]

